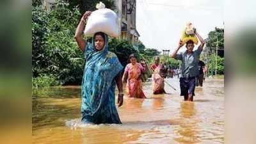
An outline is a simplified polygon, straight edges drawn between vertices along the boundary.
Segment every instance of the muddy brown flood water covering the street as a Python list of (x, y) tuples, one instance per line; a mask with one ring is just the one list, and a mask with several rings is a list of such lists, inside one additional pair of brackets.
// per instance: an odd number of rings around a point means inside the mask
[(121, 125), (81, 124), (81, 87), (48, 88), (33, 94), (33, 143), (224, 143), (224, 81), (206, 79), (196, 87), (194, 102), (179, 96), (179, 79), (166, 79), (168, 94), (148, 99), (124, 98), (118, 108)]

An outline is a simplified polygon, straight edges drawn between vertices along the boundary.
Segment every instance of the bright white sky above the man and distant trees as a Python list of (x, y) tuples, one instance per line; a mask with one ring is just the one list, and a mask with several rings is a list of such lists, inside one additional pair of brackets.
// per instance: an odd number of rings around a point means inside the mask
[[(207, 38), (215, 27), (224, 28), (223, 0), (137, 0), (136, 29), (145, 47), (174, 51), (186, 23), (192, 22)], [(186, 48), (182, 47), (181, 51)]]

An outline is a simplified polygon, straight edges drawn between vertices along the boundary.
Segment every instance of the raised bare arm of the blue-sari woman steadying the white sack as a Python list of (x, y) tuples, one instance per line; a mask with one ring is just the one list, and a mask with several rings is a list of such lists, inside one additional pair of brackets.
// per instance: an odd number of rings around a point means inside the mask
[(81, 49), (81, 51), (83, 52), (85, 51), (85, 46), (86, 46), (86, 42), (85, 40), (83, 40), (83, 37), (82, 37), (83, 29), (86, 24), (86, 20), (91, 13), (92, 12), (90, 11), (85, 12), (76, 28), (75, 39), (76, 39), (77, 45), (79, 46), (79, 49)]

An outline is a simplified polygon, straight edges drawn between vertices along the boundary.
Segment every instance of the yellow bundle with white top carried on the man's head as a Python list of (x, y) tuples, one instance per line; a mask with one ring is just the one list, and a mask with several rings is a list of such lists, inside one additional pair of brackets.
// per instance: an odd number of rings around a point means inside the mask
[(182, 44), (186, 44), (186, 42), (188, 42), (189, 40), (192, 40), (194, 44), (198, 44), (198, 40), (194, 33), (194, 27), (191, 22), (188, 22), (186, 28), (184, 29), (184, 31), (182, 31), (182, 36), (180, 40), (182, 41)]

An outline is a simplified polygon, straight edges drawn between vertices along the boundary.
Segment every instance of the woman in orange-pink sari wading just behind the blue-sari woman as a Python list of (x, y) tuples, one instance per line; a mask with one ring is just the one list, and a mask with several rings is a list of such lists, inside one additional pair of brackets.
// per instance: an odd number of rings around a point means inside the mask
[(127, 82), (128, 97), (147, 98), (142, 90), (141, 74), (145, 72), (145, 67), (142, 67), (134, 54), (129, 56), (130, 63), (126, 65), (123, 76), (123, 83)]

